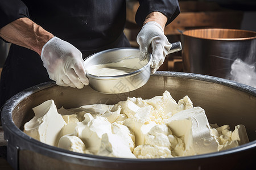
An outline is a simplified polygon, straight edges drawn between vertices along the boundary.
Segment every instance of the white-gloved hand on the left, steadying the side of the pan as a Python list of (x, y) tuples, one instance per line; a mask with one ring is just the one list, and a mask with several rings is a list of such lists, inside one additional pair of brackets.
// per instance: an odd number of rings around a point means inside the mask
[(53, 37), (44, 44), (41, 59), (57, 85), (82, 88), (89, 84), (82, 53), (69, 42)]

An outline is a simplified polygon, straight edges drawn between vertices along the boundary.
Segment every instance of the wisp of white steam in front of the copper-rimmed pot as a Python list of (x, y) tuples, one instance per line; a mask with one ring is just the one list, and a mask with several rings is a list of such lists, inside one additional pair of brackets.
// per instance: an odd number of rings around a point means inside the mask
[(255, 57), (247, 58), (245, 62), (237, 58), (232, 63), (230, 79), (256, 88), (256, 62), (253, 63), (253, 60), (255, 61)]

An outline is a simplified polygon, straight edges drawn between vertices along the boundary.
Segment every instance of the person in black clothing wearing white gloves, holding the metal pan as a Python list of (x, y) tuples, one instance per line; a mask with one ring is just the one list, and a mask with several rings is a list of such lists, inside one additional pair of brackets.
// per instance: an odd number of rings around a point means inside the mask
[[(141, 59), (152, 48), (151, 72), (171, 48), (164, 27), (179, 14), (177, 0), (139, 1), (135, 20)], [(28, 87), (49, 80), (59, 86), (89, 84), (83, 59), (101, 50), (127, 47), (125, 0), (0, 1), (0, 36), (10, 42), (2, 69), (0, 107)]]

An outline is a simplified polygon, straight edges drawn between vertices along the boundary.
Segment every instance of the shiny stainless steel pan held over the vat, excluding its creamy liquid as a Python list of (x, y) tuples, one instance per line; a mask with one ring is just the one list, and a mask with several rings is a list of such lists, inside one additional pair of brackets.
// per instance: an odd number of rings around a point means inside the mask
[[(85, 59), (84, 64), (85, 68), (89, 68), (93, 65), (119, 62), (129, 57), (139, 58), (139, 54), (137, 48), (114, 48), (92, 54)], [(151, 61), (152, 58), (147, 56), (145, 61), (136, 63), (136, 65), (134, 63), (133, 69), (136, 69), (136, 71), (123, 75), (97, 76), (87, 71), (86, 76), (89, 79), (90, 87), (94, 90), (104, 94), (121, 94), (133, 91), (147, 83), (151, 74)]]

